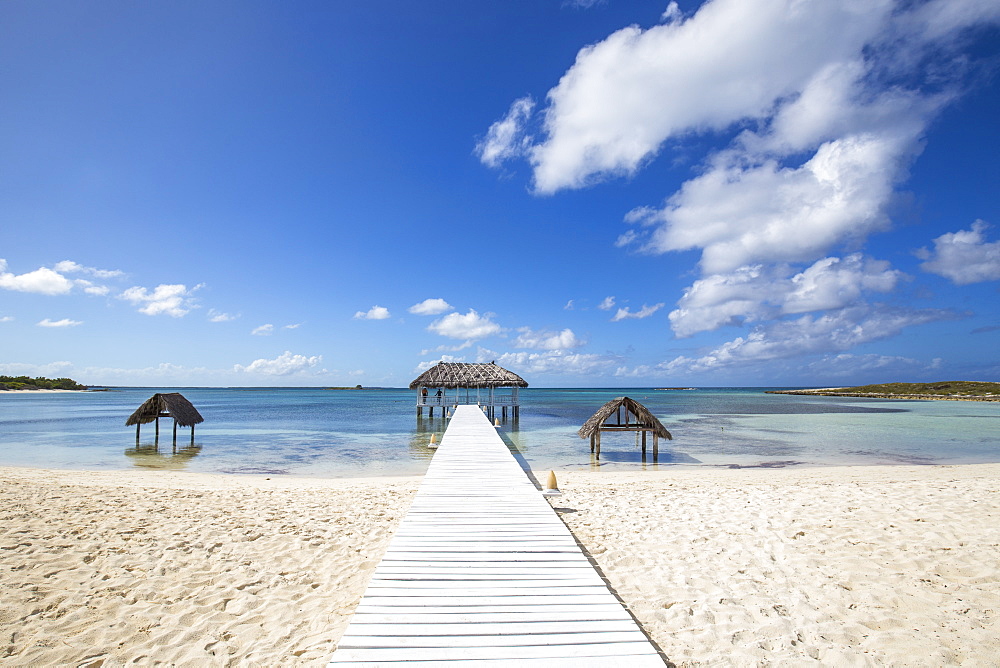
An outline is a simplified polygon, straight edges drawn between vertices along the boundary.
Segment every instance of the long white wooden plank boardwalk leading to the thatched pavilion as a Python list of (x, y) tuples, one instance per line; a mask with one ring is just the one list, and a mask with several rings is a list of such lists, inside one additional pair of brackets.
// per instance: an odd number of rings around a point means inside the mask
[(476, 406), (459, 406), (331, 665), (664, 661)]

